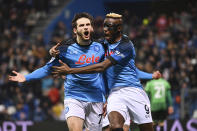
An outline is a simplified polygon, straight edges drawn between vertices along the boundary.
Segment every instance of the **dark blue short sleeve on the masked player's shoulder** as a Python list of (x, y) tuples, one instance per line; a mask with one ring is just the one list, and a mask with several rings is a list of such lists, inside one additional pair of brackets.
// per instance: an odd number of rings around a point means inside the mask
[(113, 50), (113, 54), (108, 56), (108, 59), (113, 64), (125, 65), (134, 57), (134, 46), (131, 41), (120, 42), (120, 44)]

